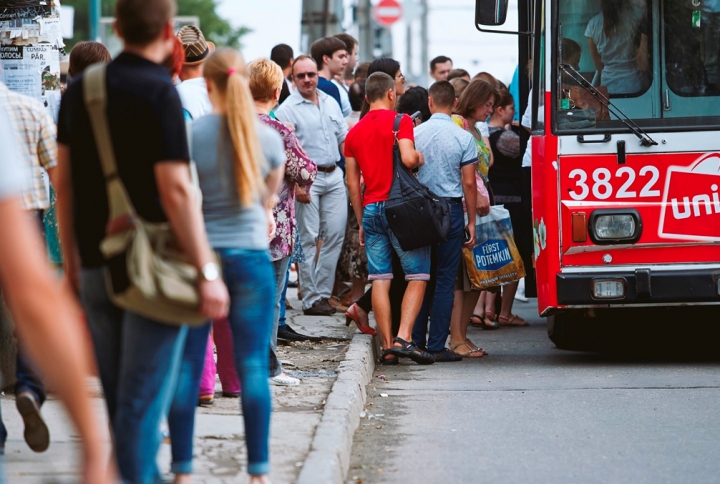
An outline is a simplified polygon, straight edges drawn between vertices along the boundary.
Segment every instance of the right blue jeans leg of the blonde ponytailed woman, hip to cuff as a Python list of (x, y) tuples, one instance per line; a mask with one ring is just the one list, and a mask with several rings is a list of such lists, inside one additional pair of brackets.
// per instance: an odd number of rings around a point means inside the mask
[(275, 274), (265, 250), (217, 249), (230, 292), (230, 329), (242, 393), (248, 473), (270, 473), (268, 359), (275, 303)]

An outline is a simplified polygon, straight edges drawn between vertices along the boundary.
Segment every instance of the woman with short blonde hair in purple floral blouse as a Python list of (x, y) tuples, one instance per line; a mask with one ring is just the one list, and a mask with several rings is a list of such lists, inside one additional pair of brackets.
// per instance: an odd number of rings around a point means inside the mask
[[(270, 59), (255, 59), (248, 64), (250, 92), (255, 103), (255, 112), (260, 121), (275, 130), (283, 140), (285, 147), (285, 177), (280, 186), (278, 203), (273, 210), (275, 232), (270, 240), (270, 258), (275, 269), (275, 313), (273, 318), (273, 331), (270, 339), (270, 381), (275, 385), (297, 385), (300, 380), (286, 375), (283, 372), (280, 360), (277, 358), (278, 324), (280, 321), (281, 305), (285, 304), (282, 297), (285, 289), (290, 259), (297, 240), (297, 218), (295, 216), (295, 187), (299, 186), (309, 190), (317, 176), (317, 165), (305, 153), (295, 133), (283, 123), (274, 118), (273, 109), (277, 106), (282, 85), (285, 82), (282, 69)], [(281, 328), (283, 334), (297, 335), (294, 339), (308, 338), (297, 333), (290, 325), (284, 324)]]

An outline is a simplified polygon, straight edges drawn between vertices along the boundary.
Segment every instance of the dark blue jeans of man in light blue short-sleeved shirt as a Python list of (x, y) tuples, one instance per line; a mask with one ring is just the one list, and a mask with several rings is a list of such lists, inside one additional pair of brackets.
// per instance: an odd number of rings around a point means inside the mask
[(413, 342), (420, 347), (425, 346), (425, 332), (430, 316), (430, 334), (427, 341), (427, 349), (430, 351), (442, 351), (445, 348), (455, 299), (455, 278), (465, 242), (462, 202), (450, 200), (449, 204), (450, 233), (447, 241), (432, 248), (432, 277), (425, 288), (425, 298), (412, 333)]

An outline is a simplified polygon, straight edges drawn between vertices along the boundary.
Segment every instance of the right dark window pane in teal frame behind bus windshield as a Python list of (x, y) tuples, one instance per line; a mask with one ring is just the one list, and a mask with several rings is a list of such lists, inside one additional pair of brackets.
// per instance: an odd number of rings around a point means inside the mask
[(678, 96), (720, 95), (720, 0), (670, 0), (664, 11), (668, 87)]

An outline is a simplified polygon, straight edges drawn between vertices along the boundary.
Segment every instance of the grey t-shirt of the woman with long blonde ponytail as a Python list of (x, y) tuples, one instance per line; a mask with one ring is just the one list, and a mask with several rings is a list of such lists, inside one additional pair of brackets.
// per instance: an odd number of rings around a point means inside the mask
[[(261, 167), (264, 178), (285, 164), (285, 148), (282, 138), (273, 129), (259, 122), (255, 126), (265, 155)], [(209, 114), (196, 120), (192, 130), (192, 158), (197, 164), (210, 245), (213, 248), (267, 249), (267, 216), (260, 200), (246, 207), (240, 204), (227, 119)]]

